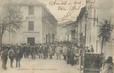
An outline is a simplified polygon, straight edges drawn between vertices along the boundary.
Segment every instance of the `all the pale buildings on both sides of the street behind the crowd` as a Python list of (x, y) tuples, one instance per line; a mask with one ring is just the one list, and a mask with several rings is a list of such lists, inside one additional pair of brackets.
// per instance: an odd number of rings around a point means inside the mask
[[(82, 47), (93, 45), (94, 51), (101, 53), (101, 40), (98, 37), (99, 22), (109, 18), (114, 20), (112, 14), (114, 7), (113, 4), (110, 4), (114, 3), (113, 0), (87, 0), (85, 7), (81, 8), (78, 17), (76, 17), (76, 21), (59, 25), (46, 5), (41, 2), (36, 0), (21, 0), (20, 2), (8, 0), (7, 3), (21, 7), (25, 21), (15, 33), (8, 31), (4, 33), (2, 41), (5, 44), (28, 43), (32, 45), (54, 41), (70, 41)], [(113, 32), (110, 42), (105, 45), (104, 53), (106, 56), (113, 55)]]

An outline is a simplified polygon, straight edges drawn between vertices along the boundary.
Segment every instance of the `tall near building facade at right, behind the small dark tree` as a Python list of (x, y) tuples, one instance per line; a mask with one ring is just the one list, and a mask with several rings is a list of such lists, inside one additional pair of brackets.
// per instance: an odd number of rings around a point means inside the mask
[[(114, 24), (113, 0), (87, 0), (86, 6), (80, 11), (76, 24), (78, 27), (78, 45), (90, 47), (93, 45), (96, 53), (101, 53), (101, 39), (99, 35), (99, 25), (104, 19), (110, 20)], [(106, 42), (103, 48), (105, 58), (113, 57), (114, 48), (114, 30), (111, 32), (109, 42)], [(83, 38), (83, 39), (82, 39)], [(85, 42), (85, 44), (84, 44)]]

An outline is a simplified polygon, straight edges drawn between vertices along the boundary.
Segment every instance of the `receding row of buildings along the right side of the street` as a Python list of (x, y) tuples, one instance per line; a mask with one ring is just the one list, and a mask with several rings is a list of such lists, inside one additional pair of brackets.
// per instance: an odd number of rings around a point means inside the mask
[[(74, 42), (82, 47), (93, 45), (94, 51), (101, 53), (101, 39), (98, 37), (100, 22), (111, 18), (112, 23), (114, 23), (112, 14), (114, 7), (110, 3), (114, 3), (113, 0), (87, 0), (85, 7), (81, 8), (76, 21), (68, 21), (58, 25), (58, 30), (62, 30), (62, 32), (58, 33), (58, 40)], [(103, 50), (106, 58), (113, 56), (113, 32), (114, 30), (112, 31), (110, 42), (106, 43)]]

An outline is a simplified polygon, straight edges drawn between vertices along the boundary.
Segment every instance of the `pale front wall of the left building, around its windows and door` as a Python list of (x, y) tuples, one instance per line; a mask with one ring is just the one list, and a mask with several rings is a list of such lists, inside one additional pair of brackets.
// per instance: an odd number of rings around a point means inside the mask
[[(8, 37), (9, 32), (5, 32), (3, 43), (27, 43), (27, 37), (35, 37), (36, 43), (42, 43), (42, 7), (35, 6), (34, 10), (34, 15), (30, 16), (28, 15), (28, 6), (21, 6), (23, 19), (25, 21), (21, 29), (16, 30), (15, 33), (10, 33), (10, 37)], [(34, 31), (28, 31), (28, 21), (34, 21)]]

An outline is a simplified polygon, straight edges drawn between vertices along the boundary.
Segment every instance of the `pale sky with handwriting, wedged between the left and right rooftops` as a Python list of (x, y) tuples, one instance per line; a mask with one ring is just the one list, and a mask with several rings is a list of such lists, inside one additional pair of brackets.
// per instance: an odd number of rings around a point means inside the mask
[[(67, 22), (67, 21), (76, 21), (80, 9), (85, 5), (85, 0), (38, 0), (38, 1), (41, 1), (42, 3), (45, 3), (47, 5), (47, 8), (55, 16), (58, 23)], [(58, 4), (53, 4), (54, 2), (65, 3), (65, 4), (58, 5)], [(74, 7), (73, 10), (70, 9), (72, 7)], [(63, 8), (63, 10), (61, 10), (61, 8)], [(65, 17), (66, 15), (68, 16)]]

